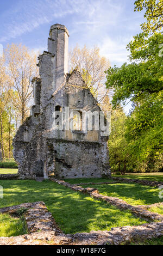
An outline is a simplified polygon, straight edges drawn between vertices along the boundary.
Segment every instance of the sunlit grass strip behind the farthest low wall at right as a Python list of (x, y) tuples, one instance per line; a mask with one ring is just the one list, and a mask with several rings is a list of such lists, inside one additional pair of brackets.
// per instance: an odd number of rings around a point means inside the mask
[(113, 177), (130, 178), (130, 179), (145, 179), (152, 181), (163, 182), (163, 173), (130, 173), (125, 175), (112, 175)]

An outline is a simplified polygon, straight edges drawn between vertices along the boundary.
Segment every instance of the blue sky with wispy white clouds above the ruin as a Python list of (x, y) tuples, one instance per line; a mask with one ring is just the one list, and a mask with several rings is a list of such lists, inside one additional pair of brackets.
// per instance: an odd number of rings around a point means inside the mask
[(135, 0), (0, 0), (0, 51), (22, 43), (31, 50), (47, 50), (49, 28), (65, 25), (69, 48), (98, 46), (111, 66), (128, 60), (128, 42), (140, 32), (143, 13)]

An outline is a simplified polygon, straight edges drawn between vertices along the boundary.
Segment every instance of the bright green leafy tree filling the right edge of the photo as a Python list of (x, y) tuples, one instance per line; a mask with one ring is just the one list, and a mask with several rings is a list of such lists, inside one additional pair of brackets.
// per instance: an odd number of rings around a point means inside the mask
[(145, 17), (148, 22), (142, 25), (146, 32), (134, 36), (134, 40), (127, 46), (130, 50), (129, 64), (124, 63), (121, 68), (109, 68), (106, 87), (114, 91), (114, 108), (122, 103), (125, 105), (129, 100), (134, 103), (134, 109), (124, 124), (123, 134), (130, 159), (136, 163), (137, 168), (143, 166), (143, 171), (149, 171), (152, 166), (157, 166), (156, 169), (159, 170), (162, 163), (163, 134), (163, 54), (160, 49), (163, 38), (159, 32), (162, 15), (158, 11), (162, 8), (162, 1), (155, 3), (140, 0), (135, 4), (135, 10), (146, 8)]

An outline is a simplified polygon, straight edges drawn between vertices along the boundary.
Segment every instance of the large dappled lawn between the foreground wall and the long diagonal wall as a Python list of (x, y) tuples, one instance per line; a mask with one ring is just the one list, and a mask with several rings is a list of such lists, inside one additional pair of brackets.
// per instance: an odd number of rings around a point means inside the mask
[(111, 227), (139, 225), (146, 221), (129, 211), (92, 199), (86, 194), (52, 181), (4, 180), (0, 208), (27, 202), (43, 201), (60, 228), (67, 233), (110, 230)]

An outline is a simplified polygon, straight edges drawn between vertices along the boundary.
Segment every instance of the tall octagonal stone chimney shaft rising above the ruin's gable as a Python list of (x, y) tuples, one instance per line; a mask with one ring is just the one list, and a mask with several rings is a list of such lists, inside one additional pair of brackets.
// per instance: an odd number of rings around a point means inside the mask
[(48, 52), (54, 55), (54, 89), (60, 87), (68, 72), (68, 30), (64, 25), (51, 26), (48, 38)]

